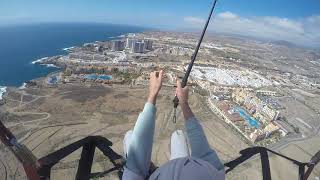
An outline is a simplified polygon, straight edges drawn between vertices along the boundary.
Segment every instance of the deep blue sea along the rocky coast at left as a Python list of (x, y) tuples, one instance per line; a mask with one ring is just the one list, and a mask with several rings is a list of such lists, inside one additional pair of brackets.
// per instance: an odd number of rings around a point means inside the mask
[(57, 71), (31, 64), (37, 59), (65, 54), (63, 48), (110, 40), (146, 28), (94, 23), (53, 23), (0, 27), (0, 86), (23, 82)]

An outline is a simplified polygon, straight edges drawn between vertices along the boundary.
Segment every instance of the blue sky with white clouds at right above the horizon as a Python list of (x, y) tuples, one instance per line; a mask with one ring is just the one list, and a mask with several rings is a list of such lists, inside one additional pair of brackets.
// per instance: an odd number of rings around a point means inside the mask
[[(200, 30), (210, 0), (0, 0), (0, 25), (99, 22)], [(209, 31), (320, 47), (320, 0), (219, 0)]]

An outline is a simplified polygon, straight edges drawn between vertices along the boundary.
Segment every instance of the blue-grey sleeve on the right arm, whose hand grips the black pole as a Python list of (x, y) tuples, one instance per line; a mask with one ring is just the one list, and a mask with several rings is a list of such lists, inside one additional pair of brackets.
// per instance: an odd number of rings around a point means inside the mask
[(195, 117), (189, 118), (185, 121), (185, 126), (191, 146), (191, 156), (209, 162), (218, 170), (223, 169), (223, 164), (217, 153), (210, 148), (199, 121)]

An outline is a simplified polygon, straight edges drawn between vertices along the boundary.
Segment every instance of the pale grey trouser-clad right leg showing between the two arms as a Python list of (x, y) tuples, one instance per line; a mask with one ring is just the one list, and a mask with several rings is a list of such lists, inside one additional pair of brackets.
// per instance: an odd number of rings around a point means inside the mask
[(187, 139), (182, 130), (176, 130), (171, 135), (170, 160), (189, 156)]

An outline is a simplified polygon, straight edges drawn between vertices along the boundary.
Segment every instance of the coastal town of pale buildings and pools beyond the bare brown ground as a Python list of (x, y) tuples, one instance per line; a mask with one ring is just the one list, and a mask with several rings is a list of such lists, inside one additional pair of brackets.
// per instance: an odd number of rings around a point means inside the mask
[[(50, 75), (47, 86), (75, 82), (147, 85), (148, 73), (156, 69), (164, 69), (166, 85), (174, 86), (187, 68), (195, 37), (166, 32), (127, 34), (111, 41), (71, 47), (66, 49), (67, 55), (43, 58), (37, 63), (65, 69)], [(273, 59), (285, 59), (278, 51), (286, 47), (246, 43), (252, 50), (244, 50), (237, 43), (230, 45), (223, 38), (209, 38), (201, 47), (190, 83), (203, 90), (212, 112), (248, 143), (269, 146), (284, 137), (312, 134), (316, 119), (304, 114), (293, 118), (290, 111), (299, 108), (293, 103), (301, 104), (298, 97), (301, 94), (315, 96), (304, 90), (319, 90), (316, 78), (319, 72), (306, 74), (304, 67), (296, 64), (291, 70), (281, 71), (279, 68), (285, 62), (277, 64)], [(257, 58), (254, 51), (258, 50), (264, 50), (267, 57), (269, 53), (274, 55), (272, 59), (261, 57), (254, 61)], [(314, 62), (318, 61), (311, 59), (308, 63), (318, 66)], [(294, 101), (288, 102), (290, 97)], [(319, 115), (319, 111), (315, 113)]]

